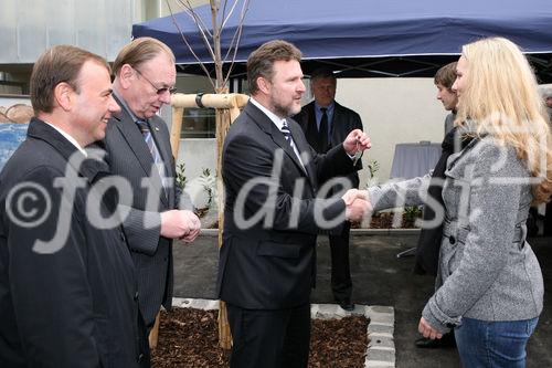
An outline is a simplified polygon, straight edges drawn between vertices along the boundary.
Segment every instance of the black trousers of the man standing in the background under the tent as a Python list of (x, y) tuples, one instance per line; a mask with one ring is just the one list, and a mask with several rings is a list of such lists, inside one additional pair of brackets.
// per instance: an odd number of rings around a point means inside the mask
[(349, 233), (351, 223), (346, 221), (339, 235), (330, 235), (331, 249), (331, 291), (338, 302), (350, 301), (352, 293), (351, 270), (349, 266)]

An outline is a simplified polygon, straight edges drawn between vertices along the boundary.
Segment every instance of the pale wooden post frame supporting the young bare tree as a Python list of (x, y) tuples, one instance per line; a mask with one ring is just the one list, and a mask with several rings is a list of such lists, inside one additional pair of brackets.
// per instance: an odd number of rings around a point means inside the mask
[[(185, 107), (202, 107), (197, 103), (198, 95), (177, 93), (171, 98), (172, 106), (172, 126), (170, 133), (171, 149), (174, 160), (178, 158), (180, 148), (180, 134), (182, 132), (182, 117)], [(219, 193), (219, 248), (222, 246), (222, 230), (224, 221), (224, 186), (222, 182), (222, 147), (224, 138), (230, 125), (240, 115), (240, 111), (250, 97), (243, 94), (229, 94), (227, 90), (221, 91), (220, 94), (204, 94), (199, 98), (204, 107), (216, 108), (216, 189)], [(159, 337), (159, 314), (156, 317), (156, 324), (149, 334), (149, 347), (155, 349)], [(226, 306), (224, 302), (220, 302), (219, 306), (219, 344), (224, 349), (230, 349), (232, 346), (232, 336), (230, 333), (230, 324), (227, 320)]]

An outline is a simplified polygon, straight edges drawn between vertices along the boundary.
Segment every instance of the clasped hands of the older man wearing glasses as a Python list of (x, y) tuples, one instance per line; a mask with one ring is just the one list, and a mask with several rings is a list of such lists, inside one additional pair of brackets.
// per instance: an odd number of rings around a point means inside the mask
[(200, 219), (192, 211), (170, 210), (161, 213), (161, 236), (191, 242), (200, 229)]

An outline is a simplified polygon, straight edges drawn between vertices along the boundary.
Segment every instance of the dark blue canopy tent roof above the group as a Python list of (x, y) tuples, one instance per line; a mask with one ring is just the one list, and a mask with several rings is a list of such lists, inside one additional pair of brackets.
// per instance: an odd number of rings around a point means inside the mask
[[(210, 24), (210, 7), (197, 11)], [(222, 33), (223, 55), (238, 12)], [(190, 15), (179, 12), (176, 20), (199, 57), (212, 63)], [(172, 17), (135, 24), (132, 35), (163, 41), (181, 71), (199, 71)], [(550, 0), (251, 0), (234, 75), (243, 73), (243, 62), (258, 45), (283, 39), (302, 51), (307, 74), (325, 63), (342, 76), (428, 76), (456, 60), (463, 44), (489, 35), (519, 44), (530, 54), (541, 82), (552, 81)]]

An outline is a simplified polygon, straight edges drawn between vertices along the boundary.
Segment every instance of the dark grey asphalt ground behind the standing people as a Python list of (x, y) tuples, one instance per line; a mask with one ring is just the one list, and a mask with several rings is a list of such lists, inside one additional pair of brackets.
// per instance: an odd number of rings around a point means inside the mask
[[(460, 367), (455, 348), (418, 349), (417, 323), (433, 292), (433, 278), (412, 274), (414, 257), (397, 259), (399, 252), (416, 244), (417, 234), (353, 234), (351, 272), (353, 299), (359, 304), (395, 308), (396, 367)], [(174, 296), (216, 298), (217, 238), (201, 235), (192, 245), (174, 246)], [(544, 274), (544, 311), (528, 347), (528, 367), (552, 367), (552, 239), (530, 240)], [(312, 303), (332, 303), (330, 259), (326, 236), (318, 244), (317, 287)]]

